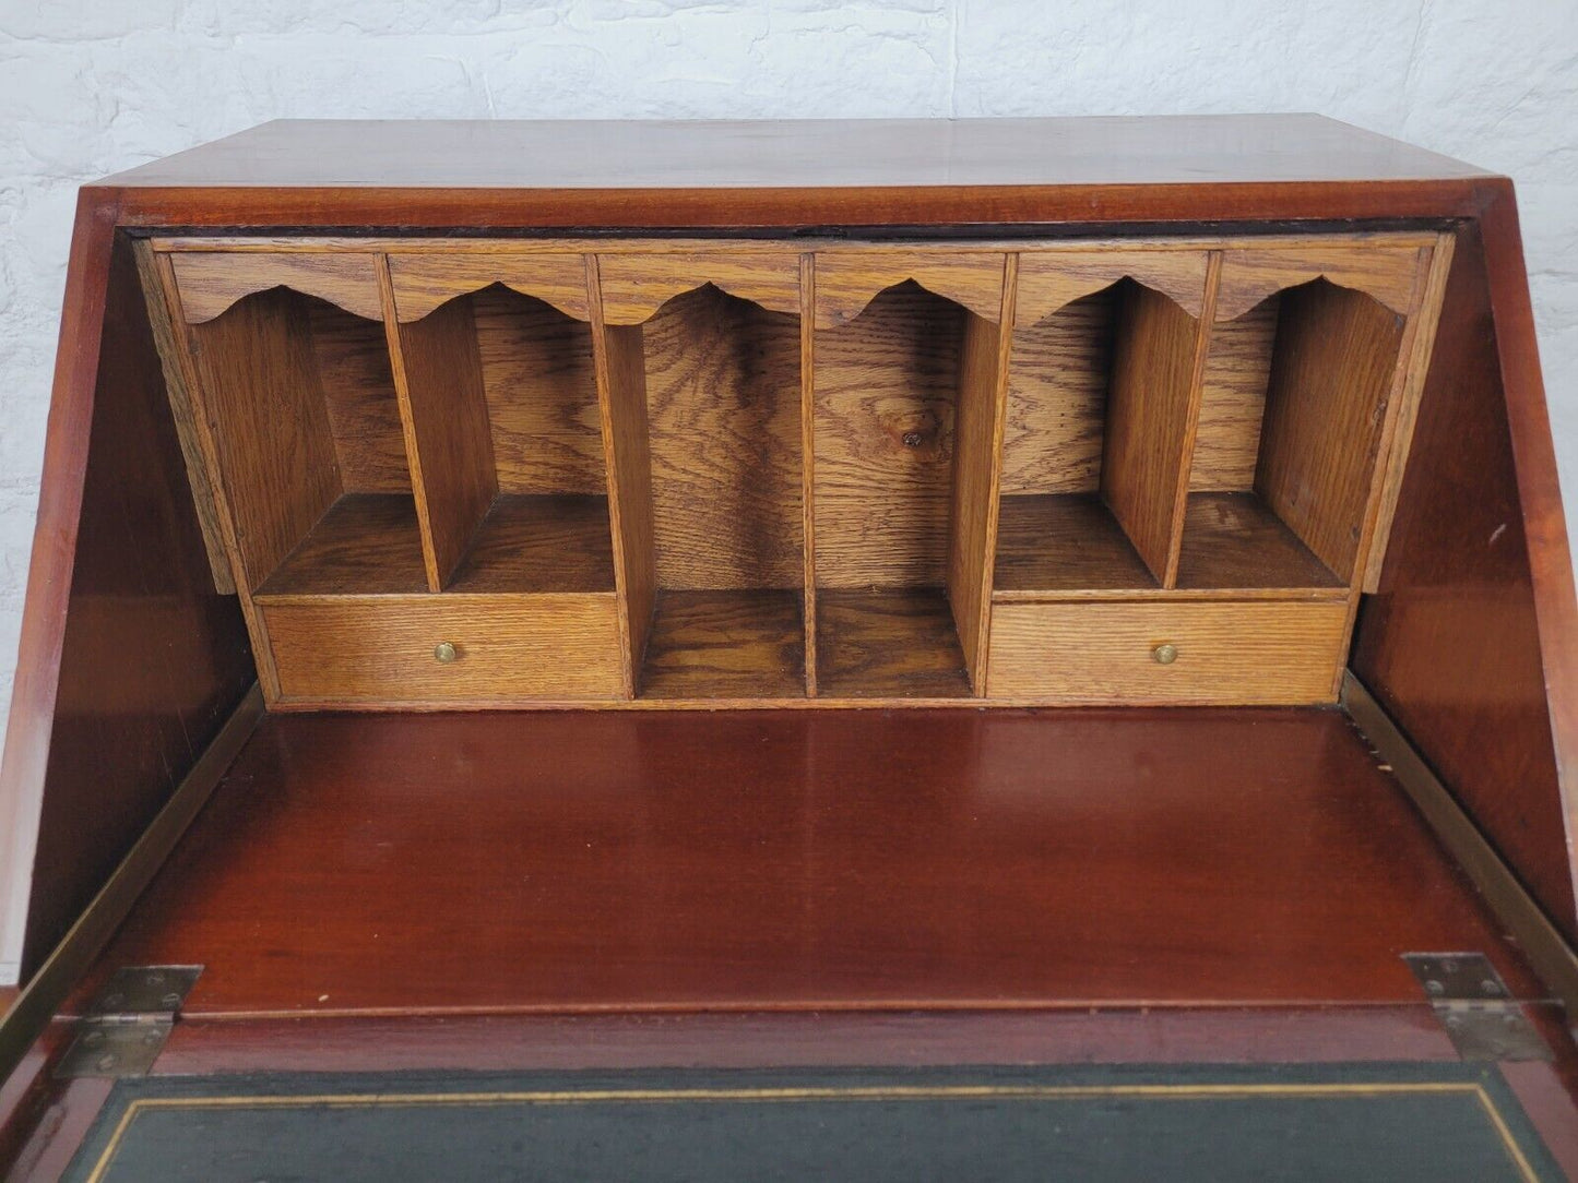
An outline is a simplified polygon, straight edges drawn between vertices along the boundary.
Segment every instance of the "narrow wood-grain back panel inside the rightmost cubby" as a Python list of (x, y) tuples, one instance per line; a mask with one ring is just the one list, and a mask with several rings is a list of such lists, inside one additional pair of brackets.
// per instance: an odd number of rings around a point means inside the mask
[(1261, 457), (1261, 420), (1277, 342), (1278, 297), (1210, 327), (1191, 492), (1248, 492)]

